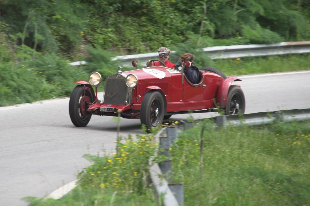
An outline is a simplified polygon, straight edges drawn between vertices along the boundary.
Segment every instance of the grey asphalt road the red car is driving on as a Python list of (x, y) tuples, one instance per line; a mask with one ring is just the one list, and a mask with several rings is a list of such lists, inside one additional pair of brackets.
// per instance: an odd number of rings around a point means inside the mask
[[(310, 108), (310, 71), (241, 76), (246, 113)], [(100, 97), (101, 98), (101, 97)], [(113, 152), (116, 122), (93, 116), (74, 127), (69, 98), (0, 107), (0, 205), (24, 206), (21, 198), (42, 198), (76, 179), (90, 163), (83, 154)], [(207, 118), (215, 113), (194, 114)], [(186, 120), (187, 114), (172, 120)], [(122, 119), (121, 135), (141, 134), (139, 119)]]

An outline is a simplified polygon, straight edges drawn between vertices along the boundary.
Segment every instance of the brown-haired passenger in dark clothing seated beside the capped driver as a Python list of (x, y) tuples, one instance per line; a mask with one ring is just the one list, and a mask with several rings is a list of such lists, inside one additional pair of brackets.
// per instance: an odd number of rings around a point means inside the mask
[[(188, 81), (193, 84), (199, 83), (199, 69), (193, 65), (194, 55), (191, 53), (185, 53), (181, 55), (182, 62), (189, 62), (189, 65), (186, 65), (184, 68), (184, 74)], [(188, 64), (188, 63), (187, 63)]]

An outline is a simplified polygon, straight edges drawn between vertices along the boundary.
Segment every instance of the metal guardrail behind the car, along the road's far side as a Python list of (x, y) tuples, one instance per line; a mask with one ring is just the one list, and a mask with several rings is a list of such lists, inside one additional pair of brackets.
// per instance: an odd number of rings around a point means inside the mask
[[(251, 44), (233, 46), (213, 46), (202, 48), (211, 59), (226, 59), (238, 57), (270, 56), (281, 54), (303, 54), (310, 53), (310, 41), (280, 42), (276, 44)], [(171, 51), (174, 54), (176, 51)], [(120, 60), (123, 65), (131, 65), (131, 61), (138, 59), (147, 61), (150, 58), (156, 59), (158, 53), (134, 54), (117, 56), (112, 61)], [(72, 62), (71, 65), (86, 64), (86, 62)]]

